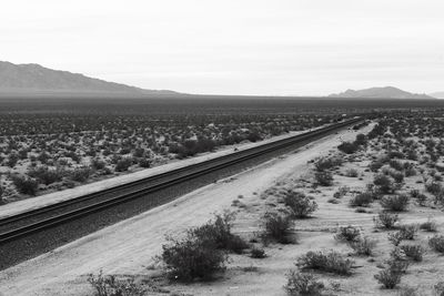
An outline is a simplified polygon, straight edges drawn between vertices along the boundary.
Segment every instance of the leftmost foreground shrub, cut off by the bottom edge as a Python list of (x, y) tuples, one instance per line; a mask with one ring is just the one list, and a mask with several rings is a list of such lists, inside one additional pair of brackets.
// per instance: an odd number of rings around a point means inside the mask
[(102, 271), (94, 276), (90, 274), (88, 283), (95, 289), (95, 296), (142, 296), (145, 290), (134, 279), (117, 279), (115, 276), (103, 276)]

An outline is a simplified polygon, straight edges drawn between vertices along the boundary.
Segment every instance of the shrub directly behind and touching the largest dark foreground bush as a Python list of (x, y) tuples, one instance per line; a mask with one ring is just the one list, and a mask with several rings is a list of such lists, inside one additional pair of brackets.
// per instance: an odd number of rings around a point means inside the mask
[(233, 220), (234, 215), (232, 213), (216, 214), (214, 220), (191, 232), (201, 241), (213, 242), (219, 249), (228, 249), (240, 254), (249, 245), (239, 235), (231, 233)]

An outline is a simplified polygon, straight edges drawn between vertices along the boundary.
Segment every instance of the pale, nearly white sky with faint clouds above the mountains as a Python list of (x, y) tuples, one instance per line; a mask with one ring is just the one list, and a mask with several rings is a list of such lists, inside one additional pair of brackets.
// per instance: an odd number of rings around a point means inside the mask
[(430, 93), (444, 1), (0, 0), (0, 60), (188, 93)]

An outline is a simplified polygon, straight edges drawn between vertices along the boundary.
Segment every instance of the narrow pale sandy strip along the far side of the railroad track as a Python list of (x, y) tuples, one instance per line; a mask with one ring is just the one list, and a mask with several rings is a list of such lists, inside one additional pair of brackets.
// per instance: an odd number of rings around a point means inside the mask
[[(322, 127), (322, 126), (319, 126), (316, 129), (320, 129), (320, 127)], [(312, 130), (316, 130), (316, 129), (312, 129)], [(202, 154), (202, 155), (199, 155), (195, 157), (191, 157), (191, 159), (186, 159), (186, 160), (182, 160), (182, 161), (174, 161), (174, 162), (171, 162), (171, 163), (168, 163), (164, 165), (159, 165), (155, 167), (141, 170), (141, 171), (138, 171), (134, 173), (123, 174), (120, 176), (98, 181), (98, 182), (90, 183), (87, 185), (81, 185), (81, 186), (78, 186), (74, 188), (64, 190), (61, 192), (49, 193), (49, 194), (44, 194), (44, 195), (39, 195), (37, 197), (31, 197), (31, 198), (27, 198), (27, 200), (22, 200), (22, 201), (18, 201), (18, 202), (12, 202), (12, 203), (0, 206), (0, 218), (10, 216), (13, 214), (22, 213), (22, 212), (29, 211), (31, 208), (38, 208), (38, 207), (41, 207), (44, 205), (59, 203), (61, 201), (74, 198), (74, 197), (78, 197), (78, 196), (81, 196), (84, 194), (94, 193), (94, 192), (102, 191), (102, 190), (105, 190), (109, 187), (113, 187), (113, 186), (117, 186), (120, 184), (125, 184), (125, 183), (129, 183), (132, 181), (137, 181), (137, 180), (141, 180), (141, 178), (149, 177), (152, 175), (161, 174), (161, 173), (174, 170), (174, 169), (180, 169), (180, 167), (188, 166), (188, 165), (191, 165), (194, 163), (199, 163), (199, 162), (203, 162), (203, 161), (219, 157), (222, 155), (226, 155), (226, 154), (233, 153), (234, 147), (238, 147), (239, 150), (249, 149), (249, 147), (262, 145), (265, 143), (274, 142), (274, 141), (278, 141), (281, 139), (285, 139), (289, 136), (294, 136), (294, 135), (297, 135), (303, 132), (304, 131), (291, 132), (289, 134), (273, 136), (271, 139), (268, 139), (268, 140), (264, 140), (261, 142), (256, 142), (256, 143), (243, 143), (243, 144), (238, 144), (238, 145), (228, 146), (228, 147), (225, 146), (213, 153), (205, 153), (205, 154)]]

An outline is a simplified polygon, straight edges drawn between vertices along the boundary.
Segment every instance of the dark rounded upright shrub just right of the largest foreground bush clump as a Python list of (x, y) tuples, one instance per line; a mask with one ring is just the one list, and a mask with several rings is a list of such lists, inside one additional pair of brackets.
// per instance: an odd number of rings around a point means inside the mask
[(291, 235), (294, 222), (289, 214), (268, 212), (263, 216), (263, 233), (265, 241), (274, 239), (281, 244), (292, 243)]

